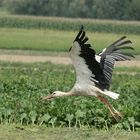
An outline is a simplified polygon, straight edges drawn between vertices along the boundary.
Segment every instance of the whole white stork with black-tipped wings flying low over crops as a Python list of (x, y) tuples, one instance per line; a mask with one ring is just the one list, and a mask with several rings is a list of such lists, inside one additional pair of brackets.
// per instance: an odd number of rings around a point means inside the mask
[(109, 91), (114, 63), (134, 57), (123, 52), (125, 49), (133, 49), (129, 46), (131, 41), (125, 38), (125, 36), (121, 37), (96, 54), (91, 45), (86, 43), (88, 37), (82, 26), (69, 49), (69, 56), (76, 71), (76, 82), (73, 88), (68, 92), (55, 91), (42, 99), (50, 100), (62, 96), (95, 96), (106, 105), (115, 120), (119, 120), (122, 117), (121, 113), (104, 96), (118, 99), (119, 94)]

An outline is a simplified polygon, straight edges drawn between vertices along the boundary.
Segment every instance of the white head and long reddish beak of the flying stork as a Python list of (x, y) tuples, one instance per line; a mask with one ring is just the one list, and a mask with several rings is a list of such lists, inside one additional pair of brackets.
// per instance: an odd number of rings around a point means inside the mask
[(62, 92), (62, 91), (54, 91), (51, 95), (42, 97), (42, 100), (43, 101), (49, 101), (53, 98), (61, 97), (61, 96), (66, 96), (66, 93)]

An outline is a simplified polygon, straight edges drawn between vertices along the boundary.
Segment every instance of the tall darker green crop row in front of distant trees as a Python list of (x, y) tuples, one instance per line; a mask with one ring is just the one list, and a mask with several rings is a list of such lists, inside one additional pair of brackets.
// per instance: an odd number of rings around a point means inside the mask
[(140, 34), (140, 22), (92, 20), (35, 16), (0, 16), (0, 27), (78, 30), (81, 25), (91, 32)]

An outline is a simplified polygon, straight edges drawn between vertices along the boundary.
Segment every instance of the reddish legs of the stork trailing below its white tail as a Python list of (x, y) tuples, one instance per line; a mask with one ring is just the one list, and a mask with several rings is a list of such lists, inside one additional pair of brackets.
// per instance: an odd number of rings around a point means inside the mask
[(106, 107), (109, 109), (111, 115), (115, 118), (116, 121), (119, 121), (120, 118), (122, 118), (122, 115), (119, 111), (117, 111), (109, 102), (106, 98), (102, 96), (97, 96), (97, 98), (103, 102)]

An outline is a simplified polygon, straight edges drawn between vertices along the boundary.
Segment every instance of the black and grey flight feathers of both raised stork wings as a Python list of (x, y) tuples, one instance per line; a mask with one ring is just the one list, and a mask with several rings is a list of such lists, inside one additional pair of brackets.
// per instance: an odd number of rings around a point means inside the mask
[(74, 42), (77, 41), (80, 46), (81, 51), (79, 56), (85, 60), (86, 65), (92, 73), (90, 80), (102, 90), (109, 89), (115, 61), (130, 60), (131, 57), (134, 57), (130, 53), (123, 52), (123, 50), (134, 49), (129, 46), (132, 42), (124, 39), (126, 39), (126, 36), (121, 37), (105, 50), (98, 53), (97, 55), (101, 57), (100, 62), (95, 58), (95, 50), (91, 48), (90, 44), (86, 43), (88, 37), (83, 30), (83, 26), (74, 40)]

